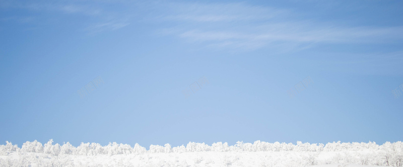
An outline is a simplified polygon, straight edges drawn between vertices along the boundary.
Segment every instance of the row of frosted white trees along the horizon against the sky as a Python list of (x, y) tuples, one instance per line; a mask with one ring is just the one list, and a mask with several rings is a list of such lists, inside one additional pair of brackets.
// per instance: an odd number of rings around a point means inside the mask
[(332, 142), (326, 145), (310, 144), (308, 142), (302, 143), (298, 141), (296, 145), (293, 143), (280, 143), (280, 142), (264, 142), (255, 141), (252, 143), (243, 143), (238, 141), (235, 145), (228, 145), (227, 142), (216, 142), (212, 145), (205, 143), (189, 142), (186, 146), (181, 145), (177, 147), (171, 147), (170, 144), (150, 145), (150, 149), (140, 146), (138, 143), (131, 147), (129, 144), (117, 144), (116, 142), (109, 143), (102, 146), (99, 143), (81, 143), (78, 147), (73, 146), (69, 142), (60, 145), (58, 143), (53, 144), (53, 140), (49, 140), (42, 145), (38, 141), (27, 141), (22, 147), (13, 145), (11, 142), (6, 141), (6, 145), (0, 145), (0, 155), (7, 155), (9, 152), (37, 152), (47, 153), (52, 155), (58, 154), (74, 154), (74, 155), (97, 155), (97, 154), (130, 154), (130, 153), (144, 153), (144, 152), (200, 152), (200, 151), (360, 151), (360, 150), (382, 150), (389, 153), (401, 153), (403, 149), (403, 142), (397, 141), (394, 143), (385, 142), (382, 145), (378, 145), (375, 142)]

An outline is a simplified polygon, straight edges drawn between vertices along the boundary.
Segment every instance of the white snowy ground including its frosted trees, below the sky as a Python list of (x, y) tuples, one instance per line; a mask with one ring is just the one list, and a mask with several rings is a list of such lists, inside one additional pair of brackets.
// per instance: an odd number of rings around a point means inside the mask
[(401, 166), (403, 143), (386, 142), (324, 144), (237, 142), (229, 146), (189, 142), (171, 147), (135, 144), (69, 142), (42, 145), (36, 140), (18, 147), (0, 145), (0, 166)]

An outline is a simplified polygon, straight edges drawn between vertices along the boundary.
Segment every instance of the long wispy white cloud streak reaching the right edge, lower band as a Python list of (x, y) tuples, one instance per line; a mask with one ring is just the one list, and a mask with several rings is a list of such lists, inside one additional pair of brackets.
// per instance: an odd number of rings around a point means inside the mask
[[(269, 30), (249, 28), (242, 31), (188, 30), (176, 34), (189, 42), (206, 42), (209, 46), (223, 48), (255, 48), (264, 46), (318, 44), (318, 43), (387, 43), (403, 39), (403, 27), (394, 28), (312, 28), (309, 26), (276, 27)], [(308, 27), (308, 28), (302, 28)], [(313, 26), (312, 26), (313, 27)], [(297, 29), (296, 29), (297, 28)], [(175, 34), (174, 34), (175, 35)], [(252, 47), (254, 46), (254, 47)]]

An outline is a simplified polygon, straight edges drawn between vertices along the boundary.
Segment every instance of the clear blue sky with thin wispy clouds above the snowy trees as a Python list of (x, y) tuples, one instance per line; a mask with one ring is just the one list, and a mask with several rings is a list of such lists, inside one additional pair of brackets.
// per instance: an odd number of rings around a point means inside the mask
[(0, 141), (400, 141), (401, 7), (0, 1)]

